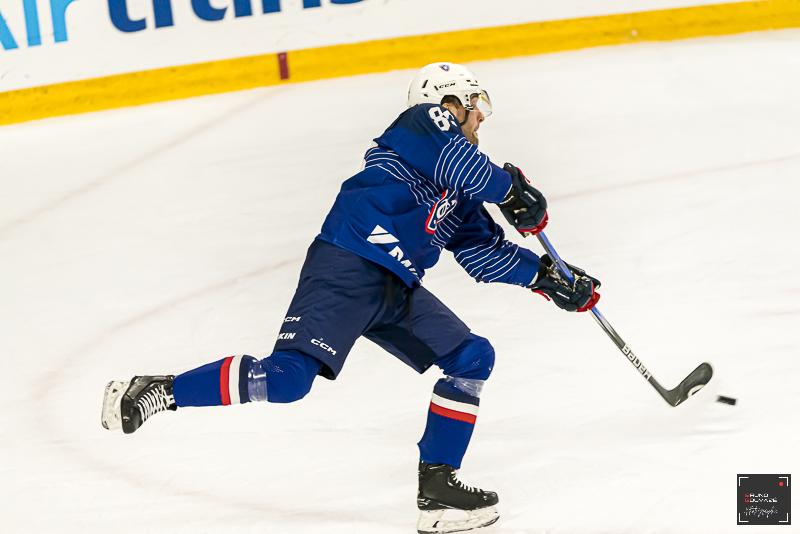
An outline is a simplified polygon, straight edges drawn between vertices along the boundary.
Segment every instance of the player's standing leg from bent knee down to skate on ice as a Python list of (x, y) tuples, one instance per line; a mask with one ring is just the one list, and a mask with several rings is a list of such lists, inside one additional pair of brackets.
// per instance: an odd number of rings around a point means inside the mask
[(496, 493), (467, 486), (456, 476), (475, 427), (481, 389), (494, 365), (494, 350), (486, 339), (470, 334), (435, 363), (447, 376), (433, 389), (419, 442), (417, 530), (421, 534), (472, 530), (499, 518)]

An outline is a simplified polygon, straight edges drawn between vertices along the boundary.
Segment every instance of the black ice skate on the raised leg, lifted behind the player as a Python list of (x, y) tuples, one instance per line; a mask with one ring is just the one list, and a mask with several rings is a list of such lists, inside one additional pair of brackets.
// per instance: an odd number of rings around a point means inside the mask
[(177, 410), (172, 396), (174, 376), (134, 376), (130, 382), (112, 381), (103, 396), (103, 428), (136, 432), (149, 417)]

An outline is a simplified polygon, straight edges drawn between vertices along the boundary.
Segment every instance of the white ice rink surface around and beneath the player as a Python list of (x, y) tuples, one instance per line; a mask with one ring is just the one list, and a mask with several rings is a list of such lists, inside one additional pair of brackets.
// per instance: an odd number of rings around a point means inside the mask
[[(588, 314), (444, 253), (426, 287), (497, 350), (461, 472), (500, 494), (485, 532), (796, 531), (736, 526), (735, 487), (800, 476), (800, 31), (472, 67), (495, 104), (482, 149), (545, 192), (611, 323), (667, 387), (715, 369), (670, 408)], [(411, 76), (0, 128), (0, 531), (414, 532), (437, 373), (368, 341), (292, 405), (100, 427), (109, 379), (269, 354)]]

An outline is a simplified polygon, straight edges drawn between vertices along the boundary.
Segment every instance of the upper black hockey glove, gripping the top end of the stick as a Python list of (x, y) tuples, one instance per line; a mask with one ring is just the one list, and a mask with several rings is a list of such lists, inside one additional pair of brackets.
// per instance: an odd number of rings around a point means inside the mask
[(511, 190), (500, 204), (508, 223), (523, 236), (536, 235), (547, 226), (547, 201), (522, 171), (511, 163), (503, 165), (511, 175)]

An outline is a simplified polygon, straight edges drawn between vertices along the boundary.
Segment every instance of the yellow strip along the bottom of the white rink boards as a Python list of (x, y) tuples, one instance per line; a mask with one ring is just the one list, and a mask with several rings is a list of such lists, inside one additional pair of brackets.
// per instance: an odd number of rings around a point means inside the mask
[[(334, 7), (342, 9), (345, 6), (328, 6)], [(530, 18), (532, 15), (526, 16)], [(524, 17), (521, 18), (524, 20)], [(508, 16), (496, 20), (507, 19)], [(372, 19), (365, 18), (361, 23), (370, 20)], [(468, 62), (639, 41), (685, 39), (798, 26), (800, 1), (758, 0), (504, 24), (488, 28), (301, 47), (288, 51), (276, 48), (284, 44), (291, 45), (293, 42), (312, 42), (302, 39), (292, 41), (290, 37), (286, 37), (277, 42), (255, 46), (276, 49), (263, 54), (92, 76), (0, 92), (0, 125), (282, 83), (414, 68), (443, 58)], [(421, 24), (414, 27), (437, 26)], [(345, 30), (340, 40), (368, 35), (353, 28)], [(290, 36), (291, 32), (287, 35)], [(250, 48), (231, 49), (226, 53), (244, 49)], [(18, 52), (6, 50), (0, 57), (13, 59), (9, 54)], [(142, 55), (146, 56), (147, 52), (145, 49)], [(210, 52), (205, 54), (212, 55)], [(191, 57), (171, 57), (167, 52), (165, 55), (167, 57), (163, 61), (185, 61), (185, 58)], [(133, 67), (137, 64), (147, 63), (131, 63)], [(121, 68), (125, 68), (125, 65)], [(13, 78), (15, 69), (9, 72), (9, 77)], [(59, 76), (68, 74), (61, 73)], [(37, 75), (29, 78), (37, 79)], [(41, 79), (48, 78), (44, 76)], [(12, 80), (8, 83), (15, 82)]]

